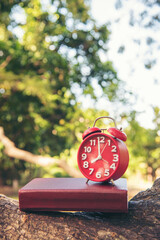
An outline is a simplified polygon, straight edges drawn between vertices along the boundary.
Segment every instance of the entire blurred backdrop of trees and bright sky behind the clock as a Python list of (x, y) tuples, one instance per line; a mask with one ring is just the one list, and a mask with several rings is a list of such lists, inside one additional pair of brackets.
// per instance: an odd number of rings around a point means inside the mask
[[(0, 193), (79, 177), (95, 118), (128, 136), (129, 197), (160, 176), (160, 1), (0, 1)], [(112, 126), (100, 121), (98, 127)]]

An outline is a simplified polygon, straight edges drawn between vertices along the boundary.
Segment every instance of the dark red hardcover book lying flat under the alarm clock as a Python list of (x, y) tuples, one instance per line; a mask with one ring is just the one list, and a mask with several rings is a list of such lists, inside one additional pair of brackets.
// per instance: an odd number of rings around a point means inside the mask
[(19, 190), (23, 211), (127, 212), (127, 180), (96, 183), (85, 178), (36, 178)]

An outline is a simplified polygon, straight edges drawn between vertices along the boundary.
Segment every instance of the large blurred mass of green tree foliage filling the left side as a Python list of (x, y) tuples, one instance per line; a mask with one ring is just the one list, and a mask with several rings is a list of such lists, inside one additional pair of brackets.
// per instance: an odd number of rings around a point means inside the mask
[[(0, 2), (0, 125), (18, 148), (59, 156), (75, 147), (87, 121), (95, 117), (94, 110), (81, 110), (76, 89), (96, 99), (93, 79), (108, 99), (116, 98), (117, 74), (111, 62), (100, 59), (109, 31), (96, 25), (87, 4)], [(16, 18), (17, 12), (25, 20)], [(15, 29), (23, 31), (22, 38)], [(29, 176), (28, 167), (34, 174), (27, 163), (11, 161), (3, 150), (1, 154), (3, 178), (6, 171), (12, 172), (7, 179), (20, 178), (24, 171)]]

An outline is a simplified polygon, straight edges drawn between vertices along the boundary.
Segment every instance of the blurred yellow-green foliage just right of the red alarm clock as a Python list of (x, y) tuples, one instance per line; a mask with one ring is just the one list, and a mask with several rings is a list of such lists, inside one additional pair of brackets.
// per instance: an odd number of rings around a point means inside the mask
[(148, 174), (151, 168), (153, 179), (160, 166), (160, 109), (153, 108), (155, 114), (155, 129), (145, 129), (135, 120), (135, 112), (130, 114), (127, 145), (130, 153), (130, 173), (140, 171)]

